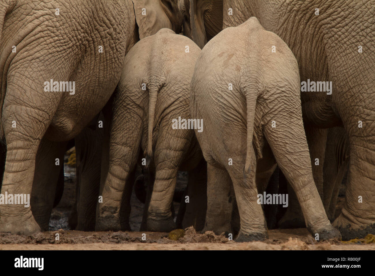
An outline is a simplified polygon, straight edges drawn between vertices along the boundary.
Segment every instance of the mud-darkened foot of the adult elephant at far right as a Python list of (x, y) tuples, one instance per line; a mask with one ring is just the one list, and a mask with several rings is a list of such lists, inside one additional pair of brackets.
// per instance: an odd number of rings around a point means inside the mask
[(363, 224), (356, 220), (354, 221), (355, 222), (341, 213), (332, 223), (332, 225), (341, 232), (343, 241), (352, 240), (354, 238), (365, 238), (368, 234), (375, 235), (375, 223), (371, 224), (370, 222), (369, 224)]

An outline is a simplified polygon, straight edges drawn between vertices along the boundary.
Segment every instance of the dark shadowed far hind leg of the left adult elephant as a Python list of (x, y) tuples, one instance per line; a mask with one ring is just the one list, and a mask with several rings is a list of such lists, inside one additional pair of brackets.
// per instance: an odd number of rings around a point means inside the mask
[(48, 231), (57, 182), (64, 166), (66, 144), (67, 142), (52, 142), (43, 138), (36, 154), (31, 212), (42, 231)]

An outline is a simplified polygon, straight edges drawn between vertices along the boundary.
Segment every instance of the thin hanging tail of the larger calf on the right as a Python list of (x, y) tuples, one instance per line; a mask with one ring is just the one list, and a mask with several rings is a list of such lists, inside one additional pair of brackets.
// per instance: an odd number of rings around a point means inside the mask
[[(244, 174), (248, 173), (251, 165), (251, 149), (253, 146), (253, 135), (254, 135), (254, 118), (255, 118), (255, 106), (257, 104), (258, 91), (254, 89), (246, 88), (245, 97), (246, 97), (246, 121), (247, 121), (247, 140), (246, 140), (246, 161), (245, 161), (245, 171)], [(256, 148), (258, 154), (260, 154), (259, 145), (256, 142)]]

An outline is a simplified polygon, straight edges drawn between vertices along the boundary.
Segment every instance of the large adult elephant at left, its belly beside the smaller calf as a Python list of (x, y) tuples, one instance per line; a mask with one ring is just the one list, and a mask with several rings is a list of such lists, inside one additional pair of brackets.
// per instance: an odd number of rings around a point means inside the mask
[[(1, 194), (31, 193), (33, 178), (38, 179), (34, 175), (38, 152), (49, 153), (45, 164), (57, 164), (59, 150), (48, 148), (77, 136), (100, 112), (118, 83), (125, 54), (139, 38), (160, 27), (180, 29), (173, 14), (177, 5), (168, 3), (134, 1), (134, 7), (130, 0), (0, 3), (0, 133), (7, 150)], [(40, 227), (30, 207), (0, 205), (0, 232), (37, 231)]]

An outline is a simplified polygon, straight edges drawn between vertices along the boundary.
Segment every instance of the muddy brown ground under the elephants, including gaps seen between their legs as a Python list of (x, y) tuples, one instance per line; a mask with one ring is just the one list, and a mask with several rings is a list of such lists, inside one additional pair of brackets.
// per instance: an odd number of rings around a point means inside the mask
[[(178, 185), (186, 185), (186, 174), (179, 173)], [(375, 236), (367, 239), (342, 242), (317, 242), (306, 228), (271, 229), (269, 240), (236, 243), (224, 236), (196, 233), (186, 229), (177, 241), (168, 233), (137, 232), (142, 219), (143, 204), (134, 192), (131, 198), (130, 227), (134, 232), (82, 232), (68, 225), (68, 215), (75, 197), (75, 169), (65, 165), (65, 187), (62, 200), (52, 211), (49, 231), (30, 236), (0, 233), (0, 250), (375, 250)], [(344, 191), (340, 192), (336, 216), (344, 204)], [(179, 204), (174, 202), (177, 215)], [(58, 234), (59, 240), (56, 240)], [(142, 240), (145, 234), (145, 240)], [(144, 236), (144, 235), (143, 235)]]

